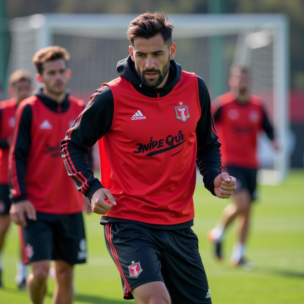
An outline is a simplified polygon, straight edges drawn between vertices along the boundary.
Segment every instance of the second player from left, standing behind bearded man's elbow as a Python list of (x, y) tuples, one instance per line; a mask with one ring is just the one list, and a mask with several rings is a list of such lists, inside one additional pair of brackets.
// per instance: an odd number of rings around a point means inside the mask
[(42, 88), (20, 103), (9, 152), (10, 216), (22, 226), (33, 304), (43, 302), (50, 260), (55, 260), (57, 278), (53, 303), (72, 303), (73, 267), (86, 259), (84, 199), (60, 157), (60, 140), (84, 109), (82, 100), (66, 93), (68, 59), (67, 50), (58, 46), (34, 55)]

